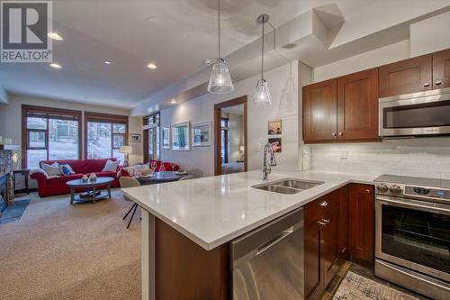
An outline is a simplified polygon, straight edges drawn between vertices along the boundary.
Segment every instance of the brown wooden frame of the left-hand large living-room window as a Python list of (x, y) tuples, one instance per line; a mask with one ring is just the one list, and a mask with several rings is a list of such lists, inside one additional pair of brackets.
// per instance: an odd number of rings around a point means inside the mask
[[(35, 117), (45, 118), (47, 120), (46, 129), (28, 129), (27, 118), (32, 114)], [(36, 105), (22, 105), (22, 168), (27, 166), (28, 150), (47, 150), (47, 159), (49, 160), (49, 119), (69, 120), (78, 123), (78, 159), (82, 157), (82, 112), (76, 110), (52, 108)], [(30, 132), (45, 132), (45, 147), (30, 147)]]

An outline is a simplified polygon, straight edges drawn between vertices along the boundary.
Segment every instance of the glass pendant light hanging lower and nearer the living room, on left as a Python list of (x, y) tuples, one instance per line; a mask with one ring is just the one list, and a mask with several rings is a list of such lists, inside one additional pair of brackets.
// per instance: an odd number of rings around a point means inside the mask
[(217, 5), (217, 23), (219, 36), (219, 57), (212, 66), (208, 92), (212, 94), (228, 94), (234, 91), (233, 83), (229, 77), (228, 65), (225, 59), (220, 58), (220, 0)]

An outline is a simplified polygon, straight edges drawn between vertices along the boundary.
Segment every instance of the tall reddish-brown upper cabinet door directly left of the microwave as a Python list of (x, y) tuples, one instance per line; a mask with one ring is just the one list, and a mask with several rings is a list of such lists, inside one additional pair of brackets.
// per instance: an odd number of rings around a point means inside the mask
[(378, 68), (338, 78), (338, 140), (378, 137)]

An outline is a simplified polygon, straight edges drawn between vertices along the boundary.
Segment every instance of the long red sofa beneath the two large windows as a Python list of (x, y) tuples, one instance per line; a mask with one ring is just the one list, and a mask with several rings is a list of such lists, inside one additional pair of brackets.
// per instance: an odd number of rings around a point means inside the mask
[[(117, 172), (121, 168), (119, 166), (116, 172), (102, 172), (104, 165), (108, 159), (68, 159), (68, 160), (43, 160), (40, 161), (39, 165), (42, 166), (42, 163), (51, 165), (55, 161), (58, 164), (68, 164), (73, 168), (75, 174), (68, 176), (60, 176), (47, 178), (44, 174), (35, 172), (31, 174), (31, 179), (36, 179), (38, 181), (38, 193), (41, 197), (49, 196), (49, 195), (62, 195), (69, 194), (70, 189), (67, 186), (67, 181), (73, 179), (79, 179), (83, 177), (84, 174), (89, 175), (91, 173), (95, 173), (97, 177), (113, 177), (114, 181), (112, 182), (112, 187), (118, 187), (119, 178), (117, 177)], [(113, 161), (117, 159), (111, 159)], [(103, 187), (103, 186), (101, 186)], [(105, 187), (105, 186), (104, 186)]]

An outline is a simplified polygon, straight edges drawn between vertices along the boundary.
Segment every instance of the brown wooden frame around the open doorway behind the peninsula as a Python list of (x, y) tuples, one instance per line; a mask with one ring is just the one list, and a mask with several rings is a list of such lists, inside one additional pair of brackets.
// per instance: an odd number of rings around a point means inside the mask
[(244, 171), (247, 172), (248, 147), (247, 147), (247, 95), (240, 96), (229, 101), (214, 105), (214, 175), (221, 175), (220, 161), (220, 119), (221, 109), (234, 105), (244, 105)]

